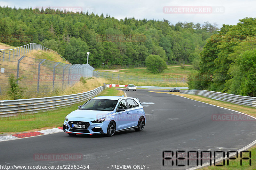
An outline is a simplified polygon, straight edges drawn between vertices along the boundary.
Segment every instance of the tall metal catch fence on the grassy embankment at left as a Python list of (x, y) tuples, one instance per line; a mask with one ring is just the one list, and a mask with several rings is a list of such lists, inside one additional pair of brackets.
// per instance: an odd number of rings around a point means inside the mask
[(27, 88), (26, 94), (64, 88), (76, 83), (82, 76), (93, 76), (94, 68), (88, 64), (71, 65), (26, 56), (25, 54), (31, 50), (49, 51), (50, 49), (34, 43), (10, 50), (0, 49), (0, 95), (6, 94), (10, 88), (8, 79), (11, 74), (17, 79), (21, 78), (18, 84)]

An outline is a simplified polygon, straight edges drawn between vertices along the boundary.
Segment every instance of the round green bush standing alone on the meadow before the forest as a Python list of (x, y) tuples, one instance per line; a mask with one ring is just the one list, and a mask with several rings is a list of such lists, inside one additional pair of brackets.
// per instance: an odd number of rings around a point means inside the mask
[(164, 69), (167, 69), (166, 62), (159, 55), (149, 55), (145, 63), (151, 73), (163, 73)]

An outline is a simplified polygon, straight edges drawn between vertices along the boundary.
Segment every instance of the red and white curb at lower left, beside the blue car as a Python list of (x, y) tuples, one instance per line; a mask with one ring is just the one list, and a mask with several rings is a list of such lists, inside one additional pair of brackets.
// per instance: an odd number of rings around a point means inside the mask
[(14, 134), (14, 135), (5, 135), (5, 136), (0, 136), (0, 142), (6, 141), (6, 140), (13, 140), (13, 139), (20, 139), (20, 138), (27, 138), (27, 137), (32, 137), (32, 136), (57, 133), (57, 132), (62, 132), (62, 131), (63, 131), (63, 127), (58, 127), (58, 128), (52, 128), (52, 129), (45, 129), (45, 130), (41, 130), (41, 131), (19, 133), (19, 134)]

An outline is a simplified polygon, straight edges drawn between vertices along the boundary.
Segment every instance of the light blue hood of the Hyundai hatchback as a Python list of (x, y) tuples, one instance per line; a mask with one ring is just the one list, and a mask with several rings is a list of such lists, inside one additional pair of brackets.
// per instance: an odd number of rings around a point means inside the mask
[(89, 118), (89, 119), (100, 119), (106, 117), (106, 115), (112, 113), (113, 111), (97, 111), (97, 110), (81, 110), (77, 109), (68, 114), (67, 117), (80, 117), (80, 118)]

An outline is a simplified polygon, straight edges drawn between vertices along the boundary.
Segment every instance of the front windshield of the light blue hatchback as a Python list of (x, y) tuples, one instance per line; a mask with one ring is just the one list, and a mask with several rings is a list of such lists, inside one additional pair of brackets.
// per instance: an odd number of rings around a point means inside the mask
[(108, 99), (92, 99), (86, 102), (80, 109), (81, 110), (102, 110), (113, 111), (115, 109), (117, 100)]

